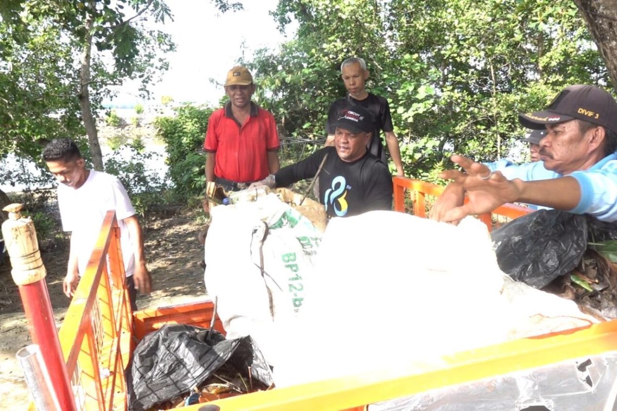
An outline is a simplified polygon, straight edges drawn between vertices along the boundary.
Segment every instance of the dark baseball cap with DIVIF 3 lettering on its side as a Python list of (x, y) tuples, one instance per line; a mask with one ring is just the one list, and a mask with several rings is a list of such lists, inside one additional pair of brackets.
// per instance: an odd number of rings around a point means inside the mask
[(599, 87), (576, 84), (563, 89), (541, 112), (518, 115), (521, 124), (531, 129), (544, 129), (546, 124), (575, 118), (617, 132), (617, 102)]

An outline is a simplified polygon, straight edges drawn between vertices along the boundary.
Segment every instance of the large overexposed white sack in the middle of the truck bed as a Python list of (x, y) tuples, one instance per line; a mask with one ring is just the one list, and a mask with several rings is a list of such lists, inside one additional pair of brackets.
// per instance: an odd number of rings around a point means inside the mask
[(393, 211), (332, 219), (319, 253), (293, 340), (278, 352), (278, 388), (429, 372), (455, 352), (597, 322), (503, 274), (471, 217), (458, 226)]

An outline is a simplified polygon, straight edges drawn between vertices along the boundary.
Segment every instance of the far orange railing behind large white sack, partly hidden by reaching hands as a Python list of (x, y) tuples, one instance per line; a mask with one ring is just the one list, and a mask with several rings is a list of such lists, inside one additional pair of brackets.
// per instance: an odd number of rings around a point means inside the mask
[[(402, 213), (407, 211), (405, 209), (405, 190), (407, 190), (409, 192), (409, 199), (412, 202), (413, 215), (423, 218), (426, 217), (426, 195), (439, 197), (445, 189), (441, 185), (408, 179), (407, 177), (392, 177), (392, 185), (394, 187), (394, 211), (401, 211)], [(527, 207), (508, 203), (495, 208), (491, 213), (480, 214), (478, 218), (491, 231), (492, 216), (494, 215), (517, 218), (531, 212), (532, 210)]]

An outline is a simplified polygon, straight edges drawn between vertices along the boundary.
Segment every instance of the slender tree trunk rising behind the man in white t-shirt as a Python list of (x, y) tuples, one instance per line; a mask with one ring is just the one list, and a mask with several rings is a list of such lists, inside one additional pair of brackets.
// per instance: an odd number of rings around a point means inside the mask
[[(93, 4), (92, 7), (95, 7)], [(94, 26), (93, 17), (90, 15), (86, 20), (86, 40), (83, 46), (83, 54), (81, 55), (81, 67), (80, 67), (80, 93), (79, 93), (79, 105), (81, 110), (81, 120), (86, 128), (88, 134), (88, 142), (90, 145), (90, 155), (92, 156), (92, 163), (94, 169), (103, 171), (103, 155), (101, 153), (101, 145), (99, 145), (99, 134), (96, 130), (96, 123), (92, 115), (92, 109), (90, 107), (90, 52), (92, 50), (92, 29)]]

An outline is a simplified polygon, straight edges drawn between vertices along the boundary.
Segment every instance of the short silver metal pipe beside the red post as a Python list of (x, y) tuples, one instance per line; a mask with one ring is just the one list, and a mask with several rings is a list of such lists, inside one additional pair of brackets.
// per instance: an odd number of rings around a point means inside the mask
[(58, 399), (51, 389), (51, 380), (41, 349), (37, 344), (30, 344), (17, 351), (17, 360), (22, 366), (30, 393), (39, 411), (62, 411)]

